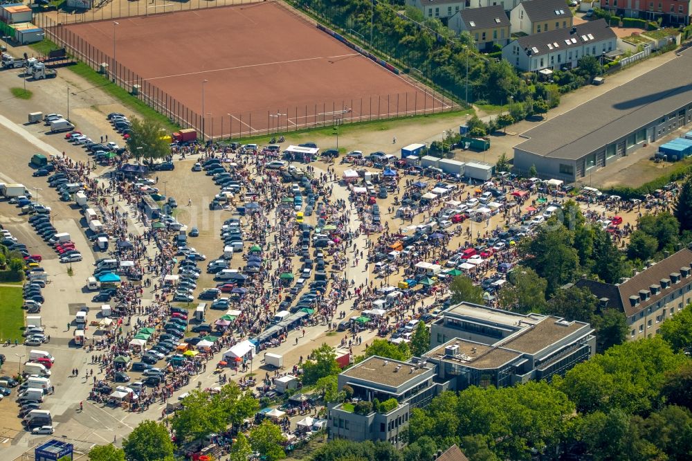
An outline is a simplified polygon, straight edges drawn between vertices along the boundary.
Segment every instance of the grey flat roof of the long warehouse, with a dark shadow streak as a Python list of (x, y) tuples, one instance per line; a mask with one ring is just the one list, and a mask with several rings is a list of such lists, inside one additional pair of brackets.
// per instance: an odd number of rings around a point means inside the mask
[(692, 50), (522, 134), (515, 149), (577, 160), (692, 102)]

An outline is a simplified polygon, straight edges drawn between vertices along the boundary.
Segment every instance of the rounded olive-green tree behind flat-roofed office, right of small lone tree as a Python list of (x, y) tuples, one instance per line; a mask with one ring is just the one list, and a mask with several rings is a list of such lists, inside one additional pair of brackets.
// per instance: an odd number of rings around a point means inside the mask
[(524, 313), (543, 311), (547, 287), (544, 278), (533, 269), (518, 267), (508, 274), (507, 279), (509, 284), (502, 287), (498, 295), (502, 307)]

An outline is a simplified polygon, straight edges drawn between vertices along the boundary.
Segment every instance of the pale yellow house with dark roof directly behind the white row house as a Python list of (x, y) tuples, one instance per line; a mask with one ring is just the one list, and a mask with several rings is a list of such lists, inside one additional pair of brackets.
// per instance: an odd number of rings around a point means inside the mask
[(512, 33), (540, 34), (572, 27), (572, 11), (565, 0), (522, 1), (509, 15)]

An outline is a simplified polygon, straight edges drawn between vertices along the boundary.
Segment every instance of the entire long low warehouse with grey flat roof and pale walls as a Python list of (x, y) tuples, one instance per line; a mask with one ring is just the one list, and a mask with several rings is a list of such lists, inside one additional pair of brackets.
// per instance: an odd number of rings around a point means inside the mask
[(579, 179), (692, 123), (692, 50), (523, 133), (514, 171)]

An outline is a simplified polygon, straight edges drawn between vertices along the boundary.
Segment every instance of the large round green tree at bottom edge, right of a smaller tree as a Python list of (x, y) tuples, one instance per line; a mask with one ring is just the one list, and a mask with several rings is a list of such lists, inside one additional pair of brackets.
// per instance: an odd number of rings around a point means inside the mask
[(128, 461), (169, 461), (173, 459), (173, 442), (163, 423), (143, 421), (122, 440)]

